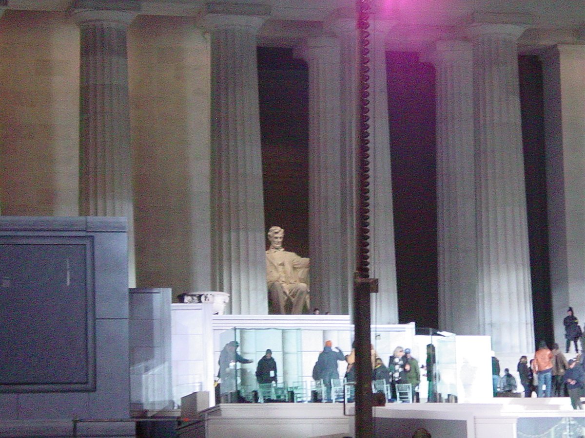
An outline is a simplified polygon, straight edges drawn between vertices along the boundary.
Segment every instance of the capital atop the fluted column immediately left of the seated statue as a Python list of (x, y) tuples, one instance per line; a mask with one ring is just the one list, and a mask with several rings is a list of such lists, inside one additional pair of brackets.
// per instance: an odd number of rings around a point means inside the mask
[(208, 3), (198, 19), (198, 24), (208, 32), (239, 29), (257, 33), (270, 13), (271, 8), (268, 5)]

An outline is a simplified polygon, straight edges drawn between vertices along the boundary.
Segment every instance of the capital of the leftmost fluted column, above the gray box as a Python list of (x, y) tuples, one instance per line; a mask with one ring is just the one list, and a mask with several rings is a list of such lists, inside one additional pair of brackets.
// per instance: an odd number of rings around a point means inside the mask
[(141, 8), (138, 0), (75, 0), (69, 15), (80, 26), (92, 22), (110, 22), (127, 27)]

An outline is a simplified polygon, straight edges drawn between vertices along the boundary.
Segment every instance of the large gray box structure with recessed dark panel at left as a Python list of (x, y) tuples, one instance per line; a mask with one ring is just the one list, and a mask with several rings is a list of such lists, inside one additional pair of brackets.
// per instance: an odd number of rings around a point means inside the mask
[(129, 418), (126, 228), (0, 217), (1, 423)]

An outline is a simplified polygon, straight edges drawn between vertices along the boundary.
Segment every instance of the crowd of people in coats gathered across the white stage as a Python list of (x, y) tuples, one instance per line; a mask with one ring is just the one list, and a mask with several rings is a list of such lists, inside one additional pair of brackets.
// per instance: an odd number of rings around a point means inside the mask
[[(579, 326), (578, 319), (574, 316), (573, 308), (569, 307), (567, 316), (563, 320), (565, 325), (565, 354), (570, 352), (574, 345), (576, 357), (567, 360), (560, 350), (558, 343), (552, 345), (552, 349), (545, 341), (540, 341), (534, 357), (528, 360), (528, 356), (521, 356), (518, 360), (517, 371), (520, 383), (524, 389), (524, 397), (570, 397), (574, 409), (583, 409), (581, 397), (585, 397), (585, 336)], [(585, 329), (585, 328), (584, 328)], [(234, 391), (236, 386), (236, 363), (252, 363), (252, 360), (242, 357), (236, 350), (239, 343), (231, 341), (222, 350), (219, 356), (218, 378), (222, 382), (222, 393)], [(431, 345), (432, 346), (432, 345)], [(580, 349), (579, 349), (580, 347)], [(427, 351), (427, 376), (432, 376), (433, 352)], [(343, 354), (339, 347), (333, 349), (331, 340), (325, 342), (324, 348), (319, 353), (315, 363), (312, 377), (314, 380), (322, 380), (325, 385), (326, 401), (331, 401), (332, 380), (339, 379), (339, 362), (347, 363), (345, 380), (353, 382), (355, 377), (355, 347), (349, 354)], [(417, 359), (412, 357), (411, 350), (398, 346), (388, 359), (388, 364), (378, 356), (374, 346), (370, 348), (371, 379), (373, 382), (383, 382), (390, 388), (387, 394), (388, 401), (399, 399), (398, 384), (410, 384), (411, 399), (419, 402), (418, 386), (421, 381), (421, 367)], [(492, 352), (491, 358), (494, 397), (498, 394), (516, 394), (516, 379), (508, 368), (504, 369), (500, 376), (500, 362)], [(259, 384), (276, 384), (278, 381), (276, 361), (272, 357), (270, 349), (258, 361), (256, 367), (256, 380)], [(429, 401), (432, 400), (433, 382), (429, 380)]]

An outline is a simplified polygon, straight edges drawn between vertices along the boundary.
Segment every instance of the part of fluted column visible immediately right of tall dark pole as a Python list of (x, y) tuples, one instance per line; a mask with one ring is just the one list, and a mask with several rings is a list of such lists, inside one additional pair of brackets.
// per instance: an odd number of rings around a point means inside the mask
[(398, 323), (384, 43), (393, 26), (393, 20), (370, 20), (370, 277), (378, 279), (378, 293), (371, 297), (372, 323), (377, 324)]

